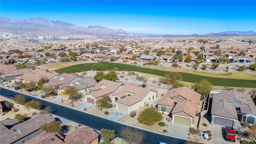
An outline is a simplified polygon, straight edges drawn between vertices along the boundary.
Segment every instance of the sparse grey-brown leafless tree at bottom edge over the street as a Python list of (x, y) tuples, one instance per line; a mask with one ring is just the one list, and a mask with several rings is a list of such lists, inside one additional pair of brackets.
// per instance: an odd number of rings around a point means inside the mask
[(130, 127), (122, 127), (120, 130), (120, 136), (122, 136), (128, 144), (140, 144), (145, 138), (142, 131)]

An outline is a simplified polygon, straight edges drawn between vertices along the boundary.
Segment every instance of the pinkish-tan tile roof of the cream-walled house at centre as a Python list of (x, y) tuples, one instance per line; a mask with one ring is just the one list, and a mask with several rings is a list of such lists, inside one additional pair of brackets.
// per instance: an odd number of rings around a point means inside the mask
[[(117, 93), (119, 97), (121, 97), (120, 100), (117, 100), (116, 103), (124, 104), (126, 106), (132, 106), (133, 104), (136, 104), (137, 102), (140, 102), (145, 98), (145, 96), (148, 94), (148, 92), (154, 91), (158, 93), (158, 90), (156, 89), (148, 89), (148, 88), (142, 88), (139, 86), (132, 86), (130, 84), (126, 84), (120, 91)], [(132, 93), (133, 95), (128, 96), (126, 92)], [(124, 98), (122, 98), (125, 96)]]

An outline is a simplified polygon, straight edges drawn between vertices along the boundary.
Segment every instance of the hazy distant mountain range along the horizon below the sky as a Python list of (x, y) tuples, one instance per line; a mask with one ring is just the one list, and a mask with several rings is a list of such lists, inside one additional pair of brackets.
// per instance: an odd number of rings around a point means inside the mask
[(11, 20), (9, 18), (0, 17), (1, 33), (12, 34), (18, 32), (20, 36), (92, 36), (93, 38), (121, 38), (125, 37), (141, 37), (141, 36), (157, 36), (165, 38), (173, 37), (218, 37), (218, 36), (256, 36), (256, 32), (247, 31), (226, 31), (210, 34), (192, 34), (192, 35), (174, 35), (174, 34), (144, 34), (126, 32), (122, 29), (111, 29), (103, 26), (76, 26), (74, 24), (62, 21), (52, 21), (46, 18), (31, 18), (28, 20)]

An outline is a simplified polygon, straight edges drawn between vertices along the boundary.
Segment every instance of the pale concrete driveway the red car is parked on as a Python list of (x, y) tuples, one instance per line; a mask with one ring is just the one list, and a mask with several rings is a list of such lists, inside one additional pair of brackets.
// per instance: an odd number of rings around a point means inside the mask
[(218, 125), (213, 125), (212, 142), (213, 144), (235, 144), (226, 141), (225, 128)]

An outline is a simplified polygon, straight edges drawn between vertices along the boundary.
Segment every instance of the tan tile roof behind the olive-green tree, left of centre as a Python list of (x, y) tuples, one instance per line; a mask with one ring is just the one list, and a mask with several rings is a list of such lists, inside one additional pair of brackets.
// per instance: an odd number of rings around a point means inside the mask
[(62, 84), (62, 87), (68, 87), (68, 86), (74, 86), (76, 87), (78, 90), (82, 90), (85, 88), (90, 88), (92, 86), (95, 86), (97, 84), (97, 81), (94, 80), (94, 78), (85, 78), (82, 80), (76, 80), (75, 82), (70, 82), (67, 84)]

